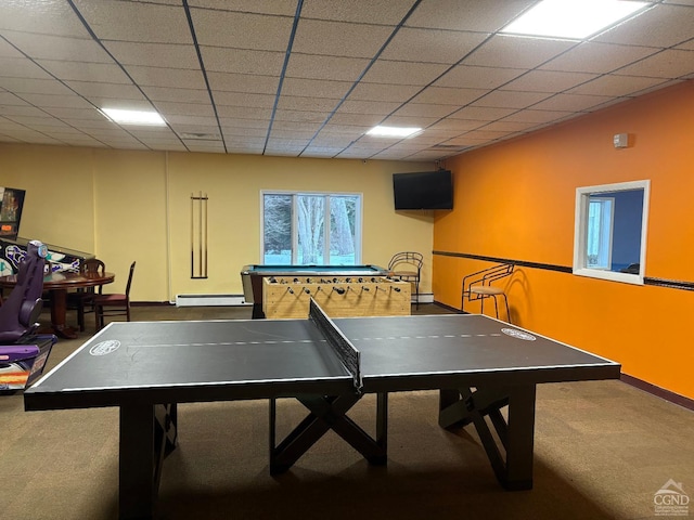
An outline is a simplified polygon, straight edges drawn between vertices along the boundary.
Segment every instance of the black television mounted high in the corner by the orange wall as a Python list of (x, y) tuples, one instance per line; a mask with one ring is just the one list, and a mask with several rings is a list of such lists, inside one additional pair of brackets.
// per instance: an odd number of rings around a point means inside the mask
[(453, 209), (450, 170), (394, 173), (395, 209)]

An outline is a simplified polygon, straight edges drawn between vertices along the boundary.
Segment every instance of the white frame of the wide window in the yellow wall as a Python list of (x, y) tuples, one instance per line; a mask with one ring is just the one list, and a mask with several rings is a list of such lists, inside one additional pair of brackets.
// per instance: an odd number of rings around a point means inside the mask
[[(358, 199), (358, 208), (355, 211), (355, 263), (354, 265), (361, 264), (362, 258), (362, 236), (363, 236), (363, 193), (358, 192), (314, 192), (314, 191), (304, 191), (304, 190), (260, 190), (260, 259), (265, 261), (265, 196), (266, 195), (291, 195), (292, 196), (292, 222), (291, 222), (291, 233), (292, 233), (292, 260), (290, 265), (309, 265), (298, 262), (298, 246), (299, 246), (299, 237), (298, 232), (296, 230), (296, 221), (298, 219), (296, 217), (296, 205), (297, 205), (297, 196), (323, 196), (325, 197), (325, 204), (323, 205), (323, 210), (325, 212), (326, 219), (324, 218), (323, 222), (327, 223), (323, 225), (323, 261), (321, 265), (333, 265), (330, 263), (330, 238), (331, 238), (331, 225), (330, 225), (330, 216), (331, 216), (331, 197), (357, 197)], [(342, 265), (342, 264), (334, 264)]]

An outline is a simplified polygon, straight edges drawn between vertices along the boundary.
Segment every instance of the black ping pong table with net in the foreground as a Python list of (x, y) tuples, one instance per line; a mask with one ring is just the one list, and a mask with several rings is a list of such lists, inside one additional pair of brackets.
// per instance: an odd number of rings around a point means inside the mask
[[(111, 323), (26, 390), (25, 408), (119, 407), (119, 517), (151, 518), (177, 444), (177, 403), (268, 399), (270, 471), (280, 473), (331, 429), (386, 464), (388, 393), (439, 390), (439, 425), (472, 424), (500, 483), (527, 490), (536, 386), (620, 373), (618, 363), (483, 315), (331, 320), (313, 303), (310, 312)], [(364, 393), (376, 394), (373, 438), (347, 415)], [(280, 398), (299, 400), (308, 415), (278, 443)]]

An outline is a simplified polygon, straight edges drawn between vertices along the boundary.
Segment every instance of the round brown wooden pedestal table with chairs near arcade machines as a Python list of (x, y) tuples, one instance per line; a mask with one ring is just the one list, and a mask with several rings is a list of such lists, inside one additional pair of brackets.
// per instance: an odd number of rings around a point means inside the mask
[[(67, 290), (83, 287), (97, 287), (111, 284), (116, 278), (114, 273), (75, 273), (60, 271), (43, 277), (43, 290), (51, 291), (51, 326), (53, 334), (61, 338), (75, 339), (77, 330), (65, 324), (67, 313)], [(0, 276), (0, 287), (13, 288), (17, 283), (17, 275)]]

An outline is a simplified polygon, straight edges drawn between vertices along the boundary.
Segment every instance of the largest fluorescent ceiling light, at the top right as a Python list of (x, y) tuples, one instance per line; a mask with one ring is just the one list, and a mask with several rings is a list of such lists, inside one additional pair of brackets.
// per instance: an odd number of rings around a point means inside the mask
[(628, 0), (542, 0), (501, 32), (582, 39), (653, 5)]

